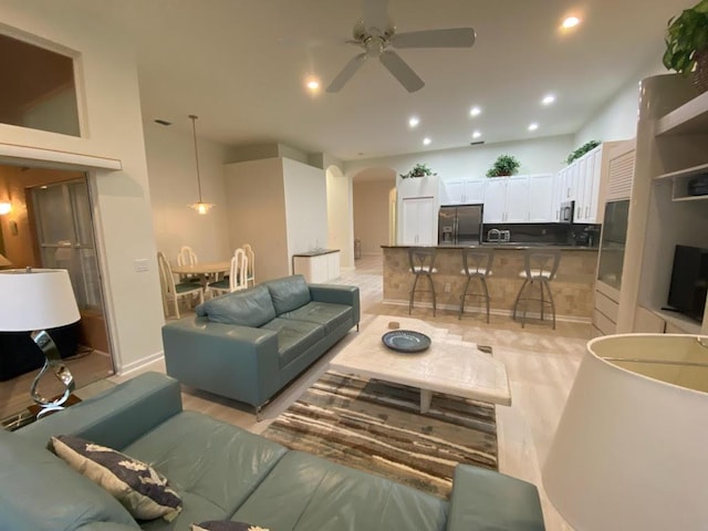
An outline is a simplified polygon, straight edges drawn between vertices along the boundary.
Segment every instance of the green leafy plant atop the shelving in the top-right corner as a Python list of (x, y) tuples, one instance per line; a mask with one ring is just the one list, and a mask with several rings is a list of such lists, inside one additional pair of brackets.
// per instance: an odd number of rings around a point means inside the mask
[(665, 41), (664, 66), (685, 76), (696, 67), (696, 85), (708, 90), (708, 0), (671, 17)]

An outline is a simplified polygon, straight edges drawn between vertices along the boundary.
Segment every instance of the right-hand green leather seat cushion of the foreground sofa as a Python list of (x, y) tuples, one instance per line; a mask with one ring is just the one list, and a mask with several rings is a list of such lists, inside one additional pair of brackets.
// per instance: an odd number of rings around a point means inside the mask
[(441, 531), (447, 511), (445, 500), (410, 487), (289, 451), (231, 520), (272, 530)]

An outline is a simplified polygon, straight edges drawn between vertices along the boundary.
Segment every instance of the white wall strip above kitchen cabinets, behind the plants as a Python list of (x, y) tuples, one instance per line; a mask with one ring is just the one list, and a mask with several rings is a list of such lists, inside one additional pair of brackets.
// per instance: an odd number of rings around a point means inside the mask
[(572, 145), (573, 135), (563, 135), (350, 160), (344, 164), (344, 175), (354, 176), (373, 167), (388, 167), (396, 174), (405, 174), (415, 164), (425, 163), (438, 174), (441, 180), (483, 177), (497, 157), (502, 154), (513, 155), (519, 159), (521, 163), (519, 174), (555, 174), (565, 166)]

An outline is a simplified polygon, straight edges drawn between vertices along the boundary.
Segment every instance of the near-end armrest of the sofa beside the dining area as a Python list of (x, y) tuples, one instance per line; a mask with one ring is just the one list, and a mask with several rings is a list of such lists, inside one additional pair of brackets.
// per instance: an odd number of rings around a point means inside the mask
[(167, 374), (217, 395), (266, 403), (279, 389), (278, 333), (183, 319), (163, 326)]

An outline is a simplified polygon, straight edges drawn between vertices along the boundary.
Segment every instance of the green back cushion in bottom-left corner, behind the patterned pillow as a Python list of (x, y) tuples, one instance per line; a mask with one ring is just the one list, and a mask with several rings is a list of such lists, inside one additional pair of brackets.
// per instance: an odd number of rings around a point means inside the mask
[(108, 492), (45, 448), (0, 429), (0, 528), (55, 531), (94, 520), (139, 529)]

